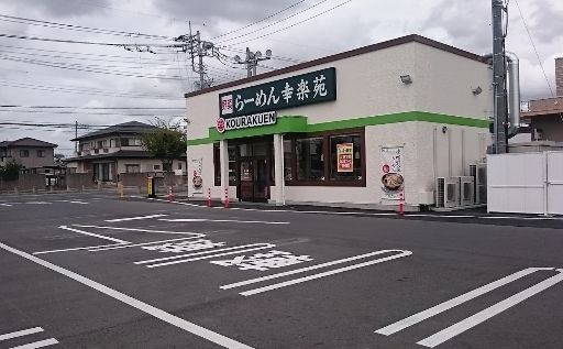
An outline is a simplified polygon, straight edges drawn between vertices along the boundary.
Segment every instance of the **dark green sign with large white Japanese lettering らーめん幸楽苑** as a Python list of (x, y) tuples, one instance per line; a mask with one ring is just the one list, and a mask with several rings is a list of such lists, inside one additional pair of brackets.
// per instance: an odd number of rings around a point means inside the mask
[(219, 95), (220, 117), (229, 119), (336, 99), (336, 70), (327, 68)]

